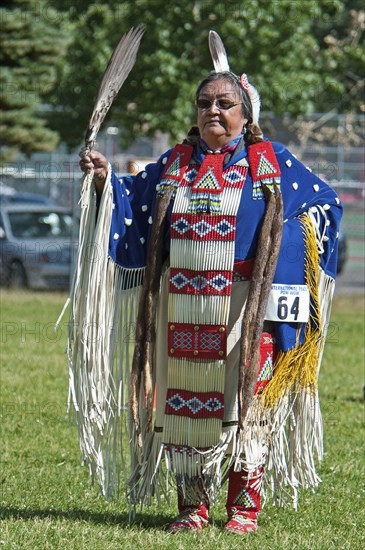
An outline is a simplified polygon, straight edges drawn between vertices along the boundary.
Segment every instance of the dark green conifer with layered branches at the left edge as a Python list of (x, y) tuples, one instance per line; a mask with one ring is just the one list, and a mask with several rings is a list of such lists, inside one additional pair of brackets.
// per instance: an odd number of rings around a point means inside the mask
[(42, 0), (2, 2), (0, 159), (18, 152), (52, 151), (58, 134), (47, 128), (40, 107), (57, 83), (65, 51), (57, 12)]

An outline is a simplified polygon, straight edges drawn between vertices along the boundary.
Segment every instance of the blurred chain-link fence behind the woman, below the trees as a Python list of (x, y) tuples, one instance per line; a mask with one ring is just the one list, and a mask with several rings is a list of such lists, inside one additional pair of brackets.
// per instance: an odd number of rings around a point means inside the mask
[[(315, 174), (336, 188), (344, 203), (365, 200), (365, 115), (316, 114), (291, 119), (263, 113), (261, 126), (273, 141), (284, 143)], [(111, 160), (119, 175), (153, 161), (168, 147), (161, 133), (154, 140), (137, 140), (127, 151), (118, 143), (118, 129), (100, 133), (98, 148)], [(45, 195), (73, 207), (77, 203), (81, 173), (78, 152), (60, 149), (52, 154), (19, 157), (0, 168), (0, 193), (10, 190)]]

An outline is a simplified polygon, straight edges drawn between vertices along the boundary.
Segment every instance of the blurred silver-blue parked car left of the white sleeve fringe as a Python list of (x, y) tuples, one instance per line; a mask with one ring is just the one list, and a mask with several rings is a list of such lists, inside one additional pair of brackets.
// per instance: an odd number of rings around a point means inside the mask
[(77, 249), (75, 223), (67, 208), (1, 201), (1, 284), (67, 289)]

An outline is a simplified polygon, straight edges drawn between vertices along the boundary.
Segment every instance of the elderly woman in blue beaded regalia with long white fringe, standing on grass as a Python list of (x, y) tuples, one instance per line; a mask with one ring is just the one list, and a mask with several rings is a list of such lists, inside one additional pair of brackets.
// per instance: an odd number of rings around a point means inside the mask
[[(263, 137), (258, 101), (245, 75), (214, 72), (196, 93), (197, 127), (155, 164), (118, 178), (96, 151), (80, 162), (93, 244), (69, 350), (81, 446), (109, 494), (128, 399), (129, 499), (159, 499), (171, 472), (172, 532), (207, 526), (225, 479), (225, 530), (255, 531), (265, 464), (279, 504), (319, 482), (317, 373), (341, 206)], [(99, 329), (87, 345), (82, 324)]]

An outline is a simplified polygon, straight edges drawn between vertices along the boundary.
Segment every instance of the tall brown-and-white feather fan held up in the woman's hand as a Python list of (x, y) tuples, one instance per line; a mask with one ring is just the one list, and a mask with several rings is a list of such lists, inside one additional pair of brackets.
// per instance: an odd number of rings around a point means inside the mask
[(94, 147), (100, 126), (136, 62), (143, 33), (144, 28), (141, 25), (131, 28), (128, 33), (122, 36), (109, 60), (85, 134), (85, 145), (89, 150)]

